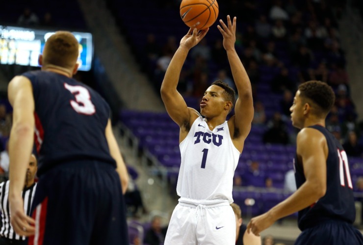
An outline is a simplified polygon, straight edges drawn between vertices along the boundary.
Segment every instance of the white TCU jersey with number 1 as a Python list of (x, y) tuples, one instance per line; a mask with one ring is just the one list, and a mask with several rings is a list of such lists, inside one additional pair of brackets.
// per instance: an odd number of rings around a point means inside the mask
[(181, 167), (177, 193), (197, 200), (233, 202), (233, 176), (239, 151), (233, 145), (228, 123), (210, 131), (200, 116), (180, 143)]

